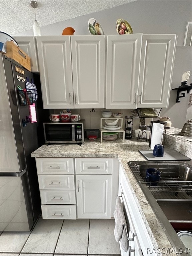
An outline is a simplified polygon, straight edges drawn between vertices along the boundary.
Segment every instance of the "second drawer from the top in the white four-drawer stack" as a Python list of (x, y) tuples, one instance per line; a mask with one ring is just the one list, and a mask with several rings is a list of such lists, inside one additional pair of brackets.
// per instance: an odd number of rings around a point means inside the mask
[(39, 174), (40, 189), (74, 190), (74, 175)]

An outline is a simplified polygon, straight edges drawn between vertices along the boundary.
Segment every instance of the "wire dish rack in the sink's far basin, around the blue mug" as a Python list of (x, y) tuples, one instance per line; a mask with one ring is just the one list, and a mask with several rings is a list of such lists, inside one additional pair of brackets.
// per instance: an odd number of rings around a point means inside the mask
[[(145, 164), (146, 162), (143, 162)], [(141, 164), (142, 165), (142, 164)], [(139, 168), (139, 165), (134, 166), (134, 175), (139, 180), (140, 183), (145, 184), (154, 198), (156, 199), (192, 199), (192, 181), (187, 181), (185, 177), (182, 176), (178, 162), (167, 163), (167, 168), (165, 172), (165, 167), (161, 167), (161, 163), (155, 163), (155, 169), (164, 170), (161, 173), (160, 181), (158, 181), (157, 186), (153, 186), (154, 182), (146, 182), (146, 167)], [(181, 165), (180, 165), (181, 166)], [(150, 168), (150, 167), (148, 167)], [(156, 181), (155, 181), (156, 183)]]

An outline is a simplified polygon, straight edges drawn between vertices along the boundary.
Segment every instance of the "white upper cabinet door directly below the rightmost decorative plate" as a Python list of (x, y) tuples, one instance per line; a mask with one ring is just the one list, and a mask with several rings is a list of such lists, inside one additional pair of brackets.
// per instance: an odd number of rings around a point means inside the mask
[(135, 108), (142, 34), (107, 36), (106, 108)]

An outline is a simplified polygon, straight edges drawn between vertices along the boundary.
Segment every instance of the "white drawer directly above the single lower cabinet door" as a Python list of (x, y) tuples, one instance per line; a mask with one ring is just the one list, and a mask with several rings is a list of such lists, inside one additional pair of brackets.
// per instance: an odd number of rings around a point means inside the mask
[(75, 158), (76, 174), (112, 174), (112, 158)]

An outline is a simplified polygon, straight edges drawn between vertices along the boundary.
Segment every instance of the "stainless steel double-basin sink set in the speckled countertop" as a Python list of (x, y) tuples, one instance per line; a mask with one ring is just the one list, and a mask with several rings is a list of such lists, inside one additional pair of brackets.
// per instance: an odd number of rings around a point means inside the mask
[[(175, 230), (191, 231), (191, 161), (132, 161), (128, 165), (172, 244), (183, 245)], [(148, 168), (161, 172), (157, 186), (153, 186), (153, 182), (145, 181)]]

